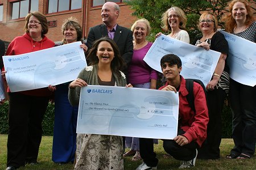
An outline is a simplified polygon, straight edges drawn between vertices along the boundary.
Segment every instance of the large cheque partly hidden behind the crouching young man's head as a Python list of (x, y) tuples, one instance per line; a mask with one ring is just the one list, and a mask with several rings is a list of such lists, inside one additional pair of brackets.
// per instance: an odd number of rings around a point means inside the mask
[(180, 74), (184, 78), (200, 79), (206, 87), (212, 78), (221, 53), (214, 50), (207, 51), (162, 34), (155, 40), (143, 60), (152, 69), (162, 73), (160, 59), (166, 54), (175, 54), (180, 57), (182, 61)]

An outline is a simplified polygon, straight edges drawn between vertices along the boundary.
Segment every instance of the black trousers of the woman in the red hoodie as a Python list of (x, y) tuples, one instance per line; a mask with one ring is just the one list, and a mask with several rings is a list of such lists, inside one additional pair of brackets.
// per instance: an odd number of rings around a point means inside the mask
[(9, 93), (7, 167), (36, 161), (42, 139), (42, 121), (49, 97)]

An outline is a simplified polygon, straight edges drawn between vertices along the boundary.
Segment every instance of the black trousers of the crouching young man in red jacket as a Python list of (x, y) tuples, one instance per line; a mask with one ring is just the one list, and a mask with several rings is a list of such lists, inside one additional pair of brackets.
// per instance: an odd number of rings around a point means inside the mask
[[(181, 129), (178, 130), (178, 135), (184, 134), (185, 132)], [(198, 147), (195, 141), (191, 143), (179, 146), (174, 140), (163, 139), (163, 148), (168, 154), (177, 160), (192, 160), (196, 156), (196, 148)], [(149, 167), (156, 167), (158, 159), (154, 152), (153, 139), (139, 138), (139, 150), (143, 162)]]

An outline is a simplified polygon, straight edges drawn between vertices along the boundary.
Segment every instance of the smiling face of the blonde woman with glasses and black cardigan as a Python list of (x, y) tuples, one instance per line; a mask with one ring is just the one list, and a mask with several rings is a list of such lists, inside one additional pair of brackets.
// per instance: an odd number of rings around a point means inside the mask
[(202, 32), (214, 31), (214, 20), (212, 15), (208, 14), (199, 20), (199, 27)]

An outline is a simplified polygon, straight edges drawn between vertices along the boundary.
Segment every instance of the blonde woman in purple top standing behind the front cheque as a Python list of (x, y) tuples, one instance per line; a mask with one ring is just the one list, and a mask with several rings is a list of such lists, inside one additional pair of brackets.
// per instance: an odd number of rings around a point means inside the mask
[[(150, 33), (150, 23), (146, 19), (137, 20), (133, 26), (131, 26), (131, 31), (133, 31), (134, 37), (134, 48), (133, 48), (133, 59), (128, 70), (128, 80), (129, 83), (133, 84), (137, 88), (151, 88), (156, 89), (156, 80), (158, 79), (158, 73), (146, 62), (143, 58), (150, 49), (152, 42), (146, 40), (146, 36)], [(154, 143), (158, 143), (155, 139)], [(141, 160), (141, 155), (139, 154), (139, 138), (126, 137), (125, 138), (126, 147), (131, 148), (123, 156), (134, 155), (133, 161)]]

